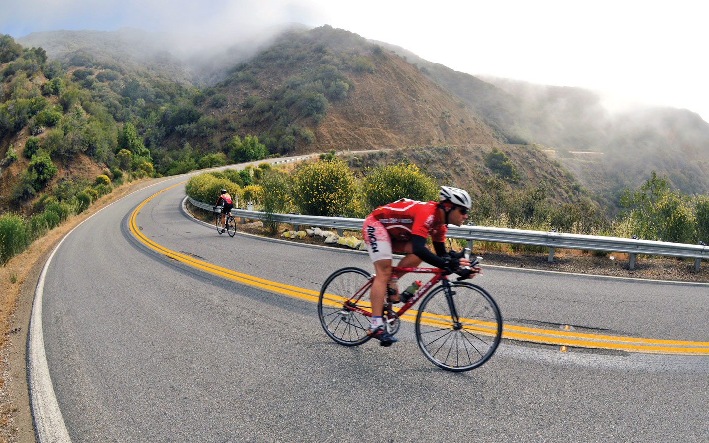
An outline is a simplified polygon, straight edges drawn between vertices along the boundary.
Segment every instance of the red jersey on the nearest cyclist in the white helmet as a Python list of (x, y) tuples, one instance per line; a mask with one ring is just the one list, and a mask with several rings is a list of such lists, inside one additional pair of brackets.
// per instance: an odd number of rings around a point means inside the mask
[(393, 240), (408, 241), (411, 235), (426, 238), (430, 235), (434, 242), (445, 241), (446, 225), (437, 220), (435, 201), (415, 201), (402, 198), (393, 203), (379, 206), (372, 211), (372, 216), (384, 228)]

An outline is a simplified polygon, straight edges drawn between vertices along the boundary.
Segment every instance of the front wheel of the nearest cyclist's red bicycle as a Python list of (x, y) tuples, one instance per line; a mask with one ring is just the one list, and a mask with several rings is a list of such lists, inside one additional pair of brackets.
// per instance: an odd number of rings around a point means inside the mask
[(423, 299), (415, 333), (418, 346), (433, 364), (447, 371), (469, 371), (495, 353), (502, 337), (502, 315), (483, 288), (467, 281), (451, 282), (450, 290), (439, 286)]

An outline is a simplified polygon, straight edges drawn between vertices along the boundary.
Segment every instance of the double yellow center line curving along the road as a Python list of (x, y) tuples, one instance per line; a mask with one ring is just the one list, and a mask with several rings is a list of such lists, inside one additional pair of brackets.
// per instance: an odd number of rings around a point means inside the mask
[[(138, 225), (136, 225), (135, 223), (135, 217), (140, 212), (140, 209), (145, 206), (145, 203), (150, 201), (155, 196), (158, 196), (164, 191), (172, 189), (174, 188), (174, 186), (179, 186), (183, 183), (185, 183), (185, 181), (174, 184), (163, 189), (160, 192), (152, 194), (152, 196), (146, 198), (145, 201), (140, 203), (140, 205), (135, 208), (133, 213), (130, 215), (130, 231), (133, 232), (133, 235), (135, 235), (135, 237), (138, 238), (140, 242), (143, 242), (143, 244), (145, 244), (150, 249), (154, 249), (156, 252), (164, 254), (170, 259), (177, 260), (184, 264), (189, 264), (192, 267), (196, 267), (197, 269), (201, 269), (202, 271), (216, 274), (218, 276), (224, 277), (225, 279), (231, 279), (233, 281), (238, 281), (242, 284), (247, 284), (259, 289), (263, 289), (265, 291), (281, 293), (285, 296), (301, 298), (303, 300), (317, 303), (319, 293), (316, 291), (281, 284), (276, 281), (270, 281), (266, 279), (261, 279), (256, 276), (242, 274), (241, 272), (233, 271), (232, 269), (218, 267), (215, 264), (203, 262), (202, 260), (196, 259), (195, 257), (180, 254), (179, 252), (175, 252), (172, 249), (167, 249), (166, 247), (158, 245), (149, 238), (145, 237), (145, 235), (140, 232)], [(407, 312), (402, 316), (401, 320), (413, 322), (414, 318), (415, 311)], [(525, 342), (554, 344), (559, 345), (561, 347), (614, 349), (625, 352), (646, 352), (655, 354), (709, 354), (709, 342), (688, 342), (682, 340), (657, 340), (639, 337), (597, 335), (588, 334), (584, 332), (574, 332), (570, 330), (549, 330), (537, 327), (524, 327), (515, 325), (503, 325), (502, 337), (508, 340), (522, 340)]]

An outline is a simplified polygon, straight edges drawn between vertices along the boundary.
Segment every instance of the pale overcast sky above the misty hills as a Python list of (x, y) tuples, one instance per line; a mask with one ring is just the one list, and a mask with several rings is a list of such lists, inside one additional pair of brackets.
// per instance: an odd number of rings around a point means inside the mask
[(582, 86), (709, 120), (709, 2), (0, 0), (0, 33), (135, 26), (230, 40), (329, 24), (469, 74)]

